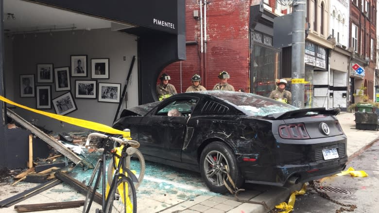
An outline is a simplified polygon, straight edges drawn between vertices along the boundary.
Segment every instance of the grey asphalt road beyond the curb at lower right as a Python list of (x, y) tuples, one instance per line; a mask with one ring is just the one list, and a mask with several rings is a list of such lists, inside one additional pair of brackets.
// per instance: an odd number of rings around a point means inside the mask
[[(329, 197), (343, 204), (357, 205), (354, 213), (379, 212), (379, 141), (371, 147), (362, 149), (362, 153), (352, 156), (347, 167), (356, 171), (363, 170), (368, 177), (333, 176), (320, 181)], [(296, 196), (294, 213), (334, 213), (341, 205), (320, 197), (313, 190), (304, 196)], [(350, 209), (350, 207), (343, 207)]]

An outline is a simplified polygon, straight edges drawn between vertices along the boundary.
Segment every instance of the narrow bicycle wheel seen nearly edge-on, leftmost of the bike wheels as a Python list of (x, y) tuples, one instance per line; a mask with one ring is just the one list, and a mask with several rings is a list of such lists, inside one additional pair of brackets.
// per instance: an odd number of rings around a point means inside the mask
[[(93, 169), (91, 178), (88, 181), (88, 190), (87, 190), (86, 199), (84, 201), (82, 213), (88, 213), (89, 209), (91, 208), (93, 198), (95, 197), (96, 189), (99, 186), (99, 182), (101, 179), (102, 169), (103, 169), (103, 161), (99, 159), (99, 161), (97, 161), (97, 164), (95, 165), (95, 168)], [(93, 180), (95, 179), (96, 174), (97, 176), (96, 176), (95, 185), (92, 188), (91, 186), (92, 186)]]

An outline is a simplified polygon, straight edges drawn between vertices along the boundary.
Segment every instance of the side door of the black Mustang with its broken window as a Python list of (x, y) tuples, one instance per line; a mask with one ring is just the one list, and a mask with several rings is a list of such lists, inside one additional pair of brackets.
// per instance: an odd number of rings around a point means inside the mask
[[(145, 116), (139, 130), (143, 154), (162, 159), (181, 161), (184, 134), (189, 115), (196, 105), (196, 98), (171, 98), (158, 106), (151, 115)], [(180, 116), (169, 116), (176, 109)]]

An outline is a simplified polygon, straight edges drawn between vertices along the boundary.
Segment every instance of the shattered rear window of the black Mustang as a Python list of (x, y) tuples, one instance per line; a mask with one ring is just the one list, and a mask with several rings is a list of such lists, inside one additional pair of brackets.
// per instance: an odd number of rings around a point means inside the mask
[(206, 91), (204, 93), (208, 93), (209, 95), (230, 102), (244, 112), (247, 112), (248, 115), (253, 116), (266, 116), (299, 109), (292, 105), (251, 93), (229, 91)]

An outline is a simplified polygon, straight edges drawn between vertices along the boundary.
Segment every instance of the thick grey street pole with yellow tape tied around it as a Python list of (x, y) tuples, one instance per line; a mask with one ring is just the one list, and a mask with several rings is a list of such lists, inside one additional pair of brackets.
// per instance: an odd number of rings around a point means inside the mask
[[(306, 0), (294, 0), (292, 11), (292, 80), (305, 79), (305, 15)], [(304, 83), (292, 83), (292, 105), (304, 108)]]

